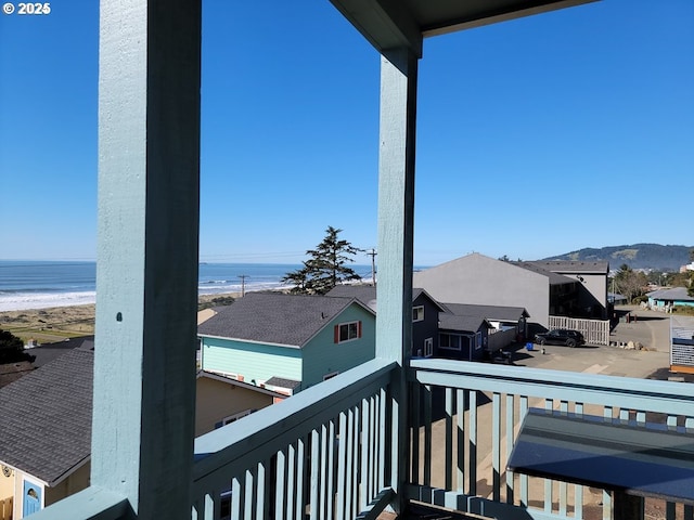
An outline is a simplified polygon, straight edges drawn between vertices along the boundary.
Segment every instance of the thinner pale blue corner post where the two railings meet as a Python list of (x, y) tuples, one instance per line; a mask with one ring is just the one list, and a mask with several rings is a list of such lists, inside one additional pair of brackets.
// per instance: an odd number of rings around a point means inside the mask
[[(378, 313), (376, 356), (407, 364), (412, 343), (414, 144), (417, 58), (409, 49), (381, 58), (378, 157)], [(404, 510), (408, 429), (404, 370), (393, 382), (390, 485)]]

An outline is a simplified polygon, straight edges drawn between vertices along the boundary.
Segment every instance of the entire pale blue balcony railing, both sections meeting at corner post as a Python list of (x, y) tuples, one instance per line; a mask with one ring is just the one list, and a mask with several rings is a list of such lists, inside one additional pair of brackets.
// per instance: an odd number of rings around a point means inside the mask
[[(606, 490), (505, 471), (527, 411), (694, 433), (691, 385), (432, 359), (411, 361), (409, 427), (398, 431), (399, 374), (375, 360), (197, 438), (192, 518), (376, 518), (398, 493), (400, 445), (407, 503), (483, 518), (609, 519)], [(657, 508), (668, 520), (694, 518), (691, 505)], [(91, 487), (35, 518), (133, 517), (121, 497)]]

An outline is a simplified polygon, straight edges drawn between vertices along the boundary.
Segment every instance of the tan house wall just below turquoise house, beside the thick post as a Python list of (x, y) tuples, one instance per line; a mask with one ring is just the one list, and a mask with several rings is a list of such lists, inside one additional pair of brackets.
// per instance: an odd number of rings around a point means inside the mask
[(195, 392), (195, 437), (282, 401), (285, 395), (219, 374), (200, 370)]

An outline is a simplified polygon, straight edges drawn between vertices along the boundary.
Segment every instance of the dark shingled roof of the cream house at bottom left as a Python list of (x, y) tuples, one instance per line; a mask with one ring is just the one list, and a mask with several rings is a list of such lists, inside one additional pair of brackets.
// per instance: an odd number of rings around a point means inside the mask
[(0, 464), (54, 486), (89, 460), (93, 364), (74, 349), (0, 389)]

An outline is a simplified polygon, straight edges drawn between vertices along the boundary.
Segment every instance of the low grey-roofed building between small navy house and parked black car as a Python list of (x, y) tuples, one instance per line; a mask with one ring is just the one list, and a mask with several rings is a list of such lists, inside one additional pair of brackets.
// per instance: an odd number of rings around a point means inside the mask
[(470, 303), (444, 303), (447, 312), (457, 316), (486, 320), (489, 325), (485, 348), (489, 352), (523, 342), (527, 337), (528, 311), (523, 307), (473, 306)]

